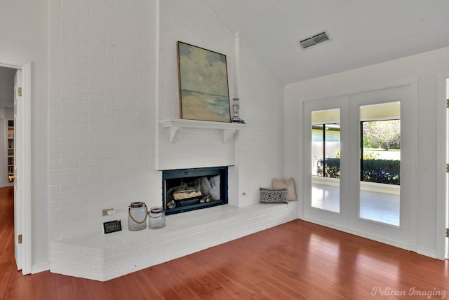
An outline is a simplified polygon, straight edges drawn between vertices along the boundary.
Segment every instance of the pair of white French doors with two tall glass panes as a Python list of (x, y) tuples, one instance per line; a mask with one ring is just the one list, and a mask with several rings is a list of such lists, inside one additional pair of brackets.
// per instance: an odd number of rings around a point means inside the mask
[(409, 85), (304, 102), (304, 219), (410, 249)]

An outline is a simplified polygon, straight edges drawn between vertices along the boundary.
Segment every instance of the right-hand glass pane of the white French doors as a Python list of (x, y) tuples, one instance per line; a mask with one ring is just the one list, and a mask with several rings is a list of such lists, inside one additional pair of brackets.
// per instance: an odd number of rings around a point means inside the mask
[(359, 217), (400, 225), (401, 104), (360, 108)]

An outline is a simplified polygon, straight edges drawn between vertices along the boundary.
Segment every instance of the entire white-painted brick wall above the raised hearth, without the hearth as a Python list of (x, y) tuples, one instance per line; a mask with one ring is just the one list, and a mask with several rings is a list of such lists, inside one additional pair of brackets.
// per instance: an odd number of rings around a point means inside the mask
[[(258, 187), (282, 175), (283, 86), (244, 42), (243, 134), (224, 145), (214, 130), (186, 131), (170, 144), (159, 125), (179, 118), (176, 41), (227, 55), (234, 95), (234, 33), (203, 0), (51, 1), (49, 19), (51, 240), (98, 233), (112, 218), (126, 223), (133, 201), (160, 205), (156, 168), (174, 161), (193, 168), (235, 159), (230, 193), (246, 196), (229, 202), (240, 206), (257, 203)], [(118, 214), (102, 217), (107, 207)]]

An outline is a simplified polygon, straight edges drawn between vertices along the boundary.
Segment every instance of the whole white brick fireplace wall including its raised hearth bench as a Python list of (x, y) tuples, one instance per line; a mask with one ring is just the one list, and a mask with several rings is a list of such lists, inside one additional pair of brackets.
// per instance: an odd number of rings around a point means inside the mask
[[(187, 129), (170, 143), (159, 124), (179, 118), (176, 41), (227, 55), (235, 96), (234, 33), (203, 0), (49, 6), (51, 271), (107, 280), (297, 218), (297, 203), (258, 204), (259, 186), (282, 177), (283, 86), (243, 40), (239, 96), (246, 128), (228, 142), (219, 130)], [(231, 165), (232, 204), (206, 209), (220, 216), (210, 221), (213, 233), (185, 243), (180, 221), (203, 218), (201, 210), (169, 216), (161, 231), (128, 231), (130, 202), (161, 204), (159, 170), (213, 165)], [(105, 208), (116, 214), (102, 217)], [(102, 222), (112, 219), (121, 219), (123, 231), (104, 235)], [(178, 250), (161, 257), (173, 247)]]

